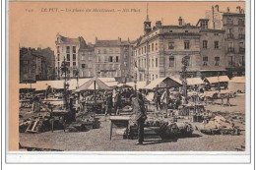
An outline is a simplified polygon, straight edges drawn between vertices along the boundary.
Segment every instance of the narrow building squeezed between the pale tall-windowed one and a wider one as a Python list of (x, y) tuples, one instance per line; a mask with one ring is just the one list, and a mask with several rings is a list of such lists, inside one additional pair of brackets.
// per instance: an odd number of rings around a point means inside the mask
[(79, 60), (79, 77), (91, 78), (95, 77), (95, 47), (93, 44), (87, 44), (86, 41), (81, 42), (78, 51)]

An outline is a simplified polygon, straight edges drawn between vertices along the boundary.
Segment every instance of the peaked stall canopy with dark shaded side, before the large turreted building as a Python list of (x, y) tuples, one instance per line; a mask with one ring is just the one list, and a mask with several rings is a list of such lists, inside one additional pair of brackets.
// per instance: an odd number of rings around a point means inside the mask
[(181, 82), (177, 79), (166, 77), (166, 78), (160, 78), (156, 79), (153, 82), (151, 82), (149, 85), (145, 86), (147, 89), (154, 89), (156, 87), (176, 87), (181, 86)]

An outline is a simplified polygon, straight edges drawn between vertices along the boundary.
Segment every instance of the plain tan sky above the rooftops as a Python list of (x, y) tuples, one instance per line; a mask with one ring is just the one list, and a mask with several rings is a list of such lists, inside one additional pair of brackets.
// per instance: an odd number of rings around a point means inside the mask
[[(160, 20), (163, 25), (177, 25), (179, 17), (196, 25), (205, 17), (206, 10), (217, 4), (220, 11), (226, 11), (227, 7), (230, 12), (236, 6), (245, 8), (244, 2), (148, 2), (149, 18), (152, 26)], [(57, 8), (58, 12), (51, 8)], [(95, 8), (115, 12), (85, 12)], [(21, 47), (50, 47), (54, 51), (57, 32), (66, 37), (83, 36), (92, 43), (96, 36), (135, 40), (143, 34), (146, 14), (147, 2), (10, 2), (10, 38)]]

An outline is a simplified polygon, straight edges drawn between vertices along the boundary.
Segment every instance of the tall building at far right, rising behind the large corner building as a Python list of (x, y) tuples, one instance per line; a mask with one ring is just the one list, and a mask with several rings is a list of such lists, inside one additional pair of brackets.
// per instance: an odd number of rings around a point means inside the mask
[(219, 5), (206, 12), (209, 27), (224, 33), (225, 69), (228, 76), (245, 74), (245, 14), (239, 6), (235, 12), (220, 11)]

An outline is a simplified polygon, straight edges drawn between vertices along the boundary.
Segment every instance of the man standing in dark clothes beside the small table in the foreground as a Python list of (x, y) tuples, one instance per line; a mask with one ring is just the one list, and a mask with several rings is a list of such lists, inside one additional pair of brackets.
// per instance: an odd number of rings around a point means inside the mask
[(144, 141), (144, 123), (147, 119), (146, 108), (142, 93), (138, 93), (138, 96), (132, 96), (132, 106), (135, 113), (135, 120), (138, 126), (138, 144), (143, 144)]

